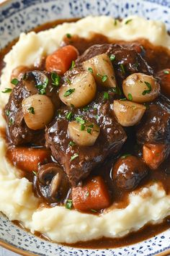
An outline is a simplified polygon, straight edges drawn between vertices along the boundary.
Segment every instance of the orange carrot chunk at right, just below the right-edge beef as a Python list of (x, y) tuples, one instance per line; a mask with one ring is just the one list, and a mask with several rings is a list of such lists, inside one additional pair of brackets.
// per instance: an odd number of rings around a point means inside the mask
[(164, 144), (145, 144), (143, 145), (143, 159), (153, 170), (165, 160), (169, 146)]

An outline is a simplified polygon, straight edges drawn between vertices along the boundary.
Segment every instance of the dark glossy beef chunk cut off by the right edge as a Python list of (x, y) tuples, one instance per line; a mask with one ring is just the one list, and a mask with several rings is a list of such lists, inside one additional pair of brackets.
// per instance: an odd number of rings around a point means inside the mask
[(170, 101), (160, 95), (150, 103), (148, 110), (137, 127), (138, 143), (169, 143), (170, 142)]

